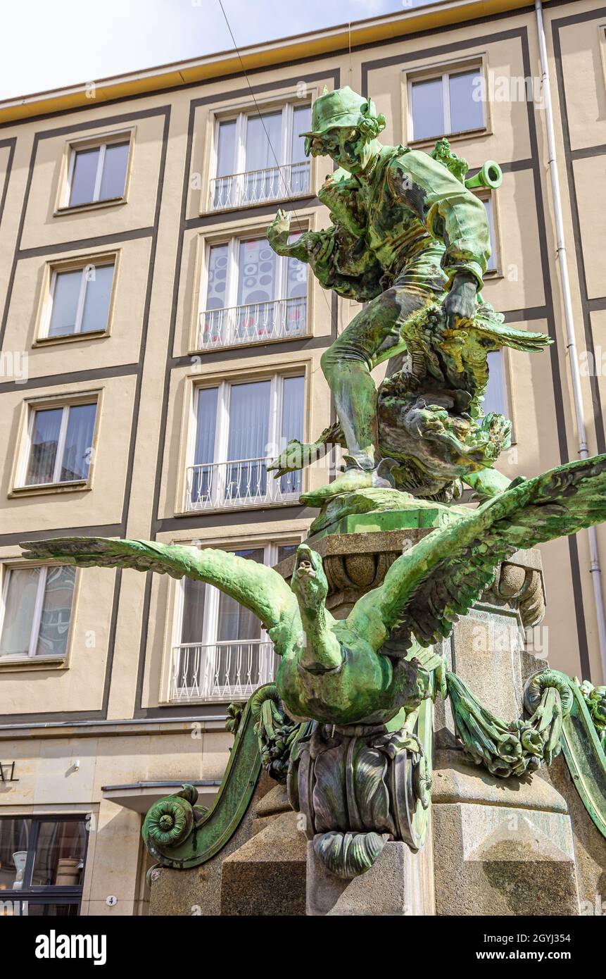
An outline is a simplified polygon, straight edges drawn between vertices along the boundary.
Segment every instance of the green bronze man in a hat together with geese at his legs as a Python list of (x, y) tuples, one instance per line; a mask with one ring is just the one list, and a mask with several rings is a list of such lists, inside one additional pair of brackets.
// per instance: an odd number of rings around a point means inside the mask
[[(290, 443), (273, 469), (302, 468), (322, 443), (342, 444), (345, 472), (303, 496), (312, 506), (363, 487), (442, 500), (460, 494), (461, 480), (485, 496), (504, 489), (504, 477), (486, 473), (511, 430), (501, 415), (482, 411), (488, 354), (550, 341), (506, 326), (479, 302), (489, 224), (464, 183), (467, 163), (446, 140), (433, 156), (383, 146), (385, 118), (347, 86), (316, 100), (312, 125), (303, 133), (306, 152), (339, 167), (318, 194), (334, 223), (289, 243), (281, 210), (267, 237), (279, 255), (307, 262), (322, 286), (366, 304), (322, 356), (337, 426), (317, 443)], [(485, 170), (498, 186), (497, 165)], [(377, 393), (371, 372), (388, 358), (389, 380)]]

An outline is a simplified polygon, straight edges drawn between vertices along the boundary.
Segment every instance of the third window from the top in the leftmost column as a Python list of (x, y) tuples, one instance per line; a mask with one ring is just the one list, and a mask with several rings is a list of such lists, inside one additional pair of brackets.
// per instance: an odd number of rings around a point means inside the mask
[(86, 482), (96, 414), (96, 401), (33, 409), (23, 486)]

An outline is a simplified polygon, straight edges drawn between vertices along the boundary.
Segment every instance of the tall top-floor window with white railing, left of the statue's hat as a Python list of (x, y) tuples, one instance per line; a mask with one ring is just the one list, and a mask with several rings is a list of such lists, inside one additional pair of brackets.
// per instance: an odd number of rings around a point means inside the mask
[(309, 161), (300, 135), (311, 126), (309, 105), (240, 113), (217, 122), (210, 181), (212, 210), (242, 208), (309, 193)]

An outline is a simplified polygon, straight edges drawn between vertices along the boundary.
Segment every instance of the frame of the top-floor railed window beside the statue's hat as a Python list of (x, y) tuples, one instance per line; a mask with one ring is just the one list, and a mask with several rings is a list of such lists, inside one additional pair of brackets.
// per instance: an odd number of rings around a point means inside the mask
[[(278, 163), (275, 164), (276, 168), (282, 168), (284, 166), (290, 166), (292, 164), (292, 138), (294, 129), (294, 110), (302, 106), (308, 106), (311, 109), (313, 104), (313, 93), (308, 91), (304, 99), (300, 99), (297, 96), (283, 98), (279, 102), (268, 102), (268, 103), (257, 103), (256, 106), (238, 106), (231, 110), (225, 110), (221, 113), (215, 113), (212, 116), (211, 128), (210, 128), (210, 165), (209, 165), (209, 179), (207, 181), (207, 208), (206, 212), (209, 213), (226, 213), (230, 210), (243, 210), (248, 208), (259, 208), (267, 207), (267, 205), (276, 204), (281, 201), (289, 200), (301, 200), (306, 197), (312, 197), (312, 158), (307, 158), (307, 163), (309, 166), (309, 188), (306, 192), (302, 194), (288, 194), (284, 193), (283, 196), (278, 196), (276, 198), (271, 198), (270, 200), (246, 202), (239, 200), (237, 204), (228, 205), (227, 207), (214, 208), (212, 206), (212, 182), (217, 179), (217, 165), (218, 165), (218, 147), (219, 147), (219, 127), (221, 122), (236, 122), (236, 131), (234, 136), (234, 160), (233, 166), (234, 170), (232, 173), (224, 174), (225, 177), (228, 176), (238, 176), (242, 173), (254, 173), (255, 170), (246, 170), (246, 130), (248, 124), (249, 116), (266, 116), (270, 113), (280, 112), (282, 114), (282, 125), (280, 132), (280, 147), (273, 147), (275, 155), (278, 159)], [(281, 181), (283, 185), (283, 181)]]

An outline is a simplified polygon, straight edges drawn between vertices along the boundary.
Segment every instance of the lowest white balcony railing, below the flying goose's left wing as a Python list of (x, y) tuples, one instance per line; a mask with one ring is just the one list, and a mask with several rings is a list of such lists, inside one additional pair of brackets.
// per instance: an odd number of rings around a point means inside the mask
[(275, 676), (273, 643), (261, 639), (188, 643), (172, 651), (171, 700), (248, 700)]

